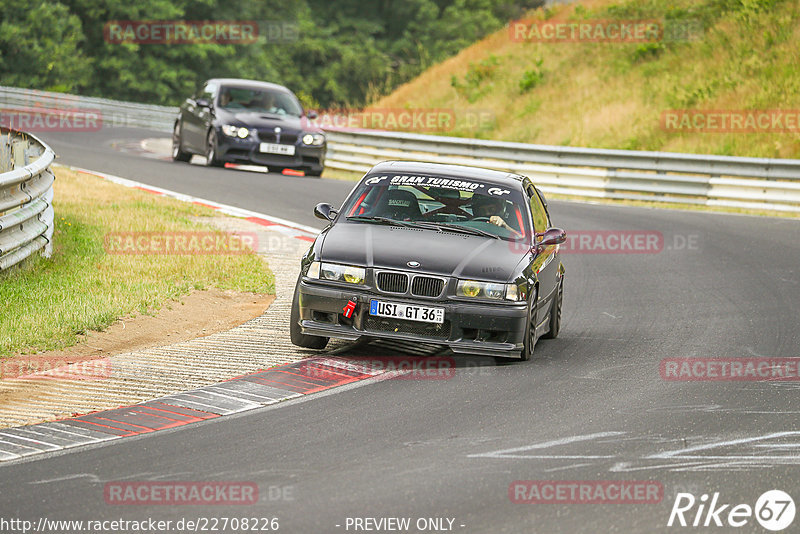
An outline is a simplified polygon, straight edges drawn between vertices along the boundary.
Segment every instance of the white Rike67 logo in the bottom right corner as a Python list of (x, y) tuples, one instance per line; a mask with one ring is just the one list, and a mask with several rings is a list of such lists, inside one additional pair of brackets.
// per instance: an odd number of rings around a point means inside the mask
[(794, 500), (781, 490), (765, 491), (756, 500), (755, 507), (723, 503), (719, 492), (715, 492), (710, 501), (705, 493), (699, 499), (691, 493), (678, 493), (667, 526), (743, 527), (752, 524), (755, 517), (762, 527), (777, 532), (791, 525), (794, 515)]

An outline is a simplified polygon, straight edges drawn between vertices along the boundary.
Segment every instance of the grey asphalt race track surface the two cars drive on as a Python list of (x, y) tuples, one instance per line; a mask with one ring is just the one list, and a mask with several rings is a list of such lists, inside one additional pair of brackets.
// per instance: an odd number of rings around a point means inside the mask
[[(65, 164), (317, 227), (313, 205), (337, 204), (352, 185), (173, 164), (112, 147), (153, 135), (41, 137)], [(412, 525), (450, 518), (452, 531), (464, 533), (766, 532), (753, 517), (741, 528), (666, 524), (679, 492), (719, 492), (719, 503), (731, 505), (723, 521), (771, 489), (800, 502), (800, 382), (668, 381), (659, 363), (800, 356), (800, 221), (565, 202), (550, 211), (568, 232), (660, 233), (663, 247), (565, 254), (563, 330), (540, 341), (534, 360), (457, 358), (447, 380), (364, 381), (0, 465), (0, 518), (277, 517), (291, 533), (364, 532), (347, 528), (348, 518), (382, 517)], [(657, 481), (663, 498), (517, 504), (508, 492), (517, 480)], [(114, 481), (247, 481), (260, 500), (109, 505), (103, 489)]]

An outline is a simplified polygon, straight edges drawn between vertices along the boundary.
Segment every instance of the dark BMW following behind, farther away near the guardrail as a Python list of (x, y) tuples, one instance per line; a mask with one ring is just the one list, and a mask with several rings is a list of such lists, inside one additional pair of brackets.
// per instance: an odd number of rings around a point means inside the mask
[(316, 113), (303, 110), (297, 97), (274, 83), (238, 79), (208, 80), (187, 98), (175, 120), (172, 159), (192, 154), (206, 164), (265, 165), (322, 174), (325, 135), (310, 125)]

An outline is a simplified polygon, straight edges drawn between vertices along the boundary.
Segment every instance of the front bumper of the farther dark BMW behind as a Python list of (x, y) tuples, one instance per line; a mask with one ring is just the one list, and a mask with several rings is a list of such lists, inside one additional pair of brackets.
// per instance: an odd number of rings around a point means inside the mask
[(228, 163), (252, 163), (281, 169), (307, 169), (322, 172), (325, 166), (326, 145), (309, 146), (295, 144), (293, 156), (268, 154), (259, 151), (261, 141), (251, 138), (239, 139), (222, 133), (217, 136), (219, 159)]

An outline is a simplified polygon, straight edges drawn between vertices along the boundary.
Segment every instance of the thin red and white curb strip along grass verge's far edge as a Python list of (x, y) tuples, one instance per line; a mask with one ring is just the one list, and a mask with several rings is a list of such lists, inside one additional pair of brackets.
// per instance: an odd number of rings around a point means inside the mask
[(58, 165), (58, 166), (75, 171), (80, 174), (88, 174), (96, 178), (108, 180), (109, 182), (113, 182), (115, 184), (119, 184), (124, 187), (130, 187), (132, 189), (138, 189), (140, 191), (145, 191), (147, 193), (152, 193), (154, 195), (166, 196), (174, 198), (181, 202), (189, 202), (191, 204), (196, 204), (198, 206), (203, 206), (206, 208), (217, 210), (220, 213), (224, 213), (225, 215), (246, 219), (250, 222), (259, 224), (261, 226), (268, 226), (270, 230), (280, 232), (286, 235), (287, 237), (292, 237), (303, 241), (314, 241), (317, 234), (319, 234), (320, 232), (320, 230), (312, 226), (306, 226), (304, 224), (288, 221), (286, 219), (281, 219), (280, 217), (273, 217), (272, 215), (266, 215), (264, 213), (258, 213), (256, 211), (237, 208), (236, 206), (230, 206), (228, 204), (221, 204), (213, 200), (207, 200), (192, 195), (186, 195), (184, 193), (170, 191), (169, 189), (162, 189), (160, 187), (143, 184), (141, 182), (136, 182), (134, 180), (129, 180), (127, 178), (114, 176), (113, 174), (90, 171), (88, 169), (83, 169), (81, 167), (73, 167), (70, 165)]

